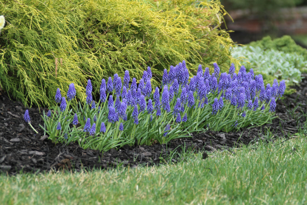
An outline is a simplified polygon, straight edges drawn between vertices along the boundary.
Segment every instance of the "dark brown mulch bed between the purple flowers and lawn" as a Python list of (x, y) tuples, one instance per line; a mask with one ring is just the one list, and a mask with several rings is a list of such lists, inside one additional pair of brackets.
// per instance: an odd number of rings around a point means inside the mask
[[(43, 125), (38, 108), (25, 108), (20, 102), (9, 99), (6, 93), (0, 92), (0, 171), (14, 175), (20, 171), (35, 173), (61, 168), (80, 171), (82, 168), (91, 170), (118, 166), (150, 166), (166, 162), (170, 153), (174, 150), (180, 152), (183, 145), (186, 149), (206, 153), (216, 149), (248, 145), (258, 139), (266, 140), (268, 130), (273, 133), (274, 138), (288, 137), (298, 132), (299, 124), (306, 121), (301, 113), (306, 113), (307, 109), (307, 80), (294, 88), (297, 93), (277, 101), (276, 114), (279, 119), (276, 118), (272, 124), (261, 128), (243, 129), (234, 133), (209, 130), (193, 134), (192, 138), (173, 140), (167, 146), (125, 146), (120, 150), (109, 150), (103, 154), (95, 150), (84, 150), (77, 144), (53, 144), (43, 136), (38, 126)], [(38, 131), (36, 135), (23, 119), (26, 109), (29, 109), (32, 125)], [(47, 111), (40, 109), (42, 110)], [(172, 158), (172, 161), (176, 162), (176, 157)]]

